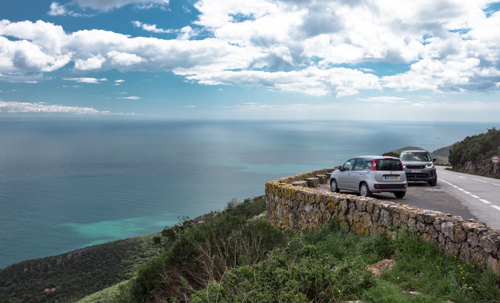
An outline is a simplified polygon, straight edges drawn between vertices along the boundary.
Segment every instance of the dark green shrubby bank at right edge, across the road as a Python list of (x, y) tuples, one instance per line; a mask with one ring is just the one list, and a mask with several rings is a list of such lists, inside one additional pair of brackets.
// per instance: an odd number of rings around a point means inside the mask
[[(485, 165), (493, 155), (500, 154), (500, 130), (488, 129), (486, 133), (466, 137), (450, 150), (451, 165), (461, 167), (469, 161), (479, 161)], [(492, 166), (492, 165), (491, 165)]]

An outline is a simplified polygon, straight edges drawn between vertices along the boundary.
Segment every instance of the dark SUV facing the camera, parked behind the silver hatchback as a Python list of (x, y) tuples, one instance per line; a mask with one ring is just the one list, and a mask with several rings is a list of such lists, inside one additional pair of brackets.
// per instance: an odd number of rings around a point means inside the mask
[(399, 155), (403, 163), (406, 180), (409, 182), (424, 181), (431, 186), (436, 186), (437, 174), (431, 153), (427, 150), (403, 150)]

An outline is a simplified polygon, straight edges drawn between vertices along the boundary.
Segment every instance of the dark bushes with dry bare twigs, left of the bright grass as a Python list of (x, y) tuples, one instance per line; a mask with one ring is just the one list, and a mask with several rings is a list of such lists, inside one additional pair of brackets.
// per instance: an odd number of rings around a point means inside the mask
[[(255, 203), (255, 204), (254, 204)], [(247, 220), (264, 211), (262, 197), (229, 202), (226, 210), (177, 235), (169, 250), (143, 267), (119, 302), (185, 302), (191, 293), (218, 281), (229, 269), (255, 265), (286, 236), (266, 220)]]

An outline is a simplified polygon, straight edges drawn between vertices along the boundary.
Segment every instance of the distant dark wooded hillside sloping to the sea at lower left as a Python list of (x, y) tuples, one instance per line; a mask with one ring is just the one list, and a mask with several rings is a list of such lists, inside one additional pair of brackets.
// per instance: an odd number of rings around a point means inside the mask
[[(154, 235), (19, 262), (0, 270), (0, 302), (75, 302), (134, 276), (157, 255)], [(44, 292), (44, 289), (55, 289)]]

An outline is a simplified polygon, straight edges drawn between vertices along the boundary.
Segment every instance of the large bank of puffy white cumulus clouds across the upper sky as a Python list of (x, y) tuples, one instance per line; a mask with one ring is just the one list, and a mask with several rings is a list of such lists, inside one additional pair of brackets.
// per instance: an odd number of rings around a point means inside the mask
[[(44, 21), (0, 21), (0, 73), (172, 71), (205, 85), (264, 86), (311, 96), (362, 90), (491, 91), (500, 86), (500, 13), (493, 0), (199, 0), (191, 26), (134, 26), (176, 38)], [(106, 11), (163, 0), (76, 0)], [(67, 14), (56, 2), (51, 14)], [(205, 36), (201, 36), (204, 33)], [(194, 38), (196, 37), (196, 38)], [(373, 66), (386, 66), (376, 76)], [(406, 65), (391, 72), (390, 66)], [(92, 82), (91, 82), (92, 83)]]

